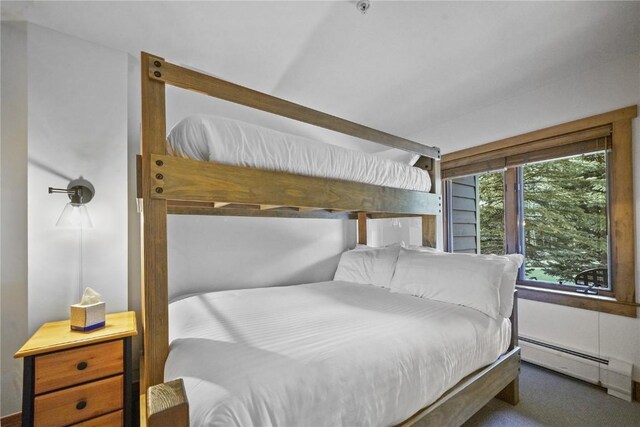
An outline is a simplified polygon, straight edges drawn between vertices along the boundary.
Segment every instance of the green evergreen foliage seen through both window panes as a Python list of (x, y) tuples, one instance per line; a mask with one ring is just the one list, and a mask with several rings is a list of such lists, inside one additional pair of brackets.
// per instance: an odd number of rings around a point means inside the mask
[[(525, 277), (573, 284), (583, 270), (606, 268), (604, 153), (526, 165), (523, 176)], [(504, 253), (502, 177), (478, 177), (482, 253)]]

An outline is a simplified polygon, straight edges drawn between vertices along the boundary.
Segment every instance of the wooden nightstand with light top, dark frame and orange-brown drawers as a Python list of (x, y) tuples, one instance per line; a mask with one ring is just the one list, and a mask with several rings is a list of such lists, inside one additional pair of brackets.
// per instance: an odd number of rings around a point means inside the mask
[(135, 312), (106, 315), (104, 328), (45, 323), (14, 357), (24, 357), (22, 425), (131, 426), (131, 337)]

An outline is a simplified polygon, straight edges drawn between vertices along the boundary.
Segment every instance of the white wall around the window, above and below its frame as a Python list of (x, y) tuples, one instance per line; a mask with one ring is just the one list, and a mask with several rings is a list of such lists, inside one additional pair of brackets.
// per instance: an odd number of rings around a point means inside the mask
[[(456, 151), (551, 125), (640, 104), (640, 54), (570, 76), (415, 136)], [(636, 295), (640, 295), (640, 121), (633, 121)], [(637, 298), (637, 297), (636, 297)], [(640, 381), (640, 319), (520, 300), (520, 332), (634, 364)]]

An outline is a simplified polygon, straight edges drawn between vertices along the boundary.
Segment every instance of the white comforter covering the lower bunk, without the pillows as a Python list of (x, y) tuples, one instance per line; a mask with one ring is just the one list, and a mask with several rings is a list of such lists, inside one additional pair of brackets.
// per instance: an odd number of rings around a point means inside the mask
[(508, 346), (510, 322), (351, 282), (191, 296), (169, 306), (165, 380), (192, 425), (396, 424)]

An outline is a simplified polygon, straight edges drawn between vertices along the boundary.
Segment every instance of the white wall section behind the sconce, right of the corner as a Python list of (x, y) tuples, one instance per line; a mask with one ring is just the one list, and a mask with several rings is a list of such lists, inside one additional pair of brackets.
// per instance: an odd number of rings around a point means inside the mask
[(79, 233), (55, 226), (66, 188), (95, 187), (83, 230), (84, 286), (107, 311), (127, 309), (127, 55), (30, 25), (29, 332), (79, 301)]

